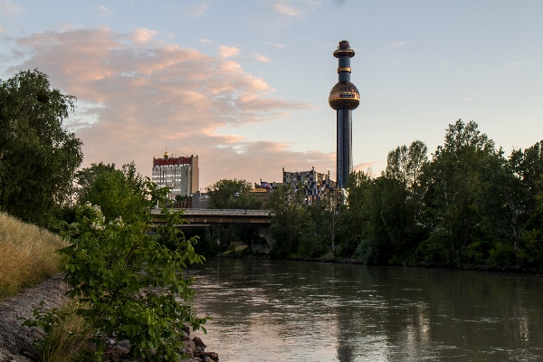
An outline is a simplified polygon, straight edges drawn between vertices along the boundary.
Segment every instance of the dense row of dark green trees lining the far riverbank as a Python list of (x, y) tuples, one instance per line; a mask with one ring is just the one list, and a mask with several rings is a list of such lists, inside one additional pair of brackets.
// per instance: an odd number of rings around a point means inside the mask
[[(456, 121), (431, 159), (421, 141), (388, 153), (381, 176), (349, 176), (345, 205), (303, 206), (288, 187), (271, 194), (277, 257), (338, 257), (372, 265), (543, 262), (543, 141), (509, 157), (475, 122)], [(341, 204), (341, 203), (339, 203)]]

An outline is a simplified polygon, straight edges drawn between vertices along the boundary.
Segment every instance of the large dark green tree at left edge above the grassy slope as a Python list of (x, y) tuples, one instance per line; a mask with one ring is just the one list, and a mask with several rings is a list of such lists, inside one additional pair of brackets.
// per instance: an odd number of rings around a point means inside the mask
[(50, 89), (46, 74), (0, 80), (0, 210), (48, 225), (71, 195), (81, 140), (62, 127), (73, 96)]

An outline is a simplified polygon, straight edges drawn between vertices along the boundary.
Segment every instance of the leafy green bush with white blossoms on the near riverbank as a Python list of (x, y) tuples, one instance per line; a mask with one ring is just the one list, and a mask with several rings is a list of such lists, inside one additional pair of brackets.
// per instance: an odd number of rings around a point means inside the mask
[(146, 179), (146, 207), (133, 210), (130, 224), (120, 217), (107, 222), (99, 206), (81, 205), (78, 222), (66, 235), (71, 244), (60, 253), (71, 297), (90, 306), (79, 312), (97, 343), (114, 335), (128, 339), (135, 356), (173, 361), (180, 357), (183, 324), (204, 329), (207, 318), (196, 317), (190, 303), (192, 280), (182, 276), (187, 263), (204, 258), (195, 253), (195, 238), (187, 240), (176, 229), (181, 213), (163, 208), (159, 216), (163, 224), (150, 229), (150, 211), (166, 201), (166, 193)]

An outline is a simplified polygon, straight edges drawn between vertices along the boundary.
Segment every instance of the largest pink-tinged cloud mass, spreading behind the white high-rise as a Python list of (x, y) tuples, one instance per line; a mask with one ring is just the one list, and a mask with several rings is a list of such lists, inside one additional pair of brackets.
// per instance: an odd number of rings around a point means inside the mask
[(232, 59), (153, 39), (136, 43), (137, 34), (102, 28), (12, 38), (3, 56), (5, 64), (16, 65), (1, 71), (37, 67), (52, 87), (78, 98), (66, 125), (83, 141), (83, 167), (134, 160), (150, 176), (152, 158), (167, 147), (178, 156), (199, 156), (202, 187), (220, 178), (279, 181), (281, 167), (333, 169), (334, 154), (292, 152), (281, 142), (218, 132), (278, 119), (309, 104), (272, 96), (265, 80)]

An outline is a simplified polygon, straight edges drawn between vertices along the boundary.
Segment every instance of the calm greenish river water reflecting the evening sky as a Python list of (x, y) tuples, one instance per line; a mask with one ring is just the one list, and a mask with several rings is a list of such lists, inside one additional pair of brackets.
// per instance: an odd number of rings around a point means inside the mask
[(543, 277), (221, 258), (187, 274), (221, 361), (543, 360)]

